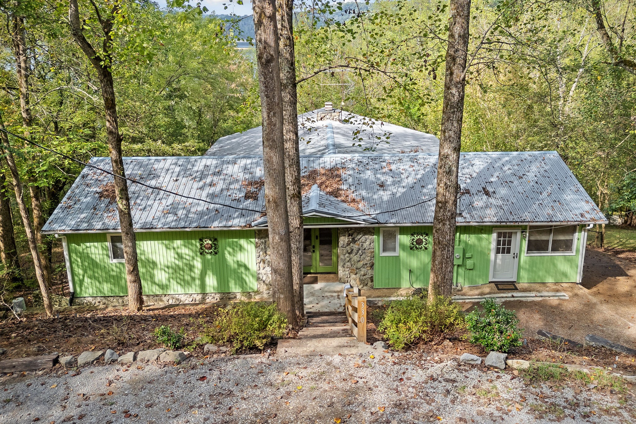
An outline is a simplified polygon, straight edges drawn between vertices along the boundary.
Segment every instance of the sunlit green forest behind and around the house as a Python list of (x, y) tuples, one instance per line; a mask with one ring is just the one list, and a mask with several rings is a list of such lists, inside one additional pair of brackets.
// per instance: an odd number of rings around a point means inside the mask
[[(89, 32), (93, 1), (79, 2)], [(125, 24), (113, 31), (112, 69), (125, 156), (203, 154), (219, 137), (260, 124), (250, 16), (117, 1)], [(447, 8), (445, 1), (420, 0), (297, 3), (298, 113), (331, 101), (439, 136)], [(636, 226), (633, 0), (476, 0), (472, 8), (462, 151), (556, 150), (606, 214)], [(0, 0), (0, 114), (7, 130), (88, 161), (108, 156), (104, 109), (67, 13), (64, 1)], [(16, 22), (27, 50), (29, 128), (20, 107)], [(81, 165), (11, 142), (39, 231)], [(8, 179), (1, 168), (0, 224), (6, 234), (10, 221), (17, 260), (17, 270), (4, 269), (4, 292), (25, 293), (37, 304)], [(66, 272), (57, 243), (43, 237), (42, 249), (54, 291), (62, 294)], [(3, 253), (10, 249), (2, 244)]]

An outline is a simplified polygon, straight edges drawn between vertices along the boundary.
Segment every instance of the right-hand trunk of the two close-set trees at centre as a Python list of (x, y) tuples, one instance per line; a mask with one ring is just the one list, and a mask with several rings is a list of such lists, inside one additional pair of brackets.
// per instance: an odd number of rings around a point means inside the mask
[(282, 127), (285, 148), (285, 178), (291, 273), (298, 317), (305, 317), (303, 294), (303, 202), (300, 185), (298, 149), (298, 99), (296, 97), (296, 62), (294, 56), (294, 1), (281, 0), (278, 5), (280, 86), (282, 92)]

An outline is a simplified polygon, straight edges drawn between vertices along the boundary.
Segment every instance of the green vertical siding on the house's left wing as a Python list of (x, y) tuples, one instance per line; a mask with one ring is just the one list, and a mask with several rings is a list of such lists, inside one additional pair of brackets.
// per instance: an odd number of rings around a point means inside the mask
[[(198, 239), (214, 236), (219, 254), (202, 256)], [(106, 234), (68, 235), (76, 296), (125, 296), (125, 265), (111, 263)], [(144, 294), (256, 291), (254, 230), (137, 233)]]

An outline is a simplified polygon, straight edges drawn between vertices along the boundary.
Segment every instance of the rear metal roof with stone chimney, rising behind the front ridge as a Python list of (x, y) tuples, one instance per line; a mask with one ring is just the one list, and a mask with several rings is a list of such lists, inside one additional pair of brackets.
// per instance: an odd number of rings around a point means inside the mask
[[(439, 140), (432, 134), (342, 112), (340, 121), (319, 121), (317, 109), (298, 116), (300, 154), (438, 153)], [(216, 140), (205, 156), (262, 156), (262, 128), (226, 135)]]

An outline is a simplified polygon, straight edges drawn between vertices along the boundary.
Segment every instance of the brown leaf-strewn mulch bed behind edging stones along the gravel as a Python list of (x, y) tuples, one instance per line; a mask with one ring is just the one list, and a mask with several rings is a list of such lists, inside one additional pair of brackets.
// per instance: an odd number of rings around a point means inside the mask
[[(111, 348), (121, 353), (163, 347), (155, 342), (152, 332), (160, 325), (169, 325), (173, 331), (183, 327), (186, 337), (184, 347), (191, 346), (194, 339), (203, 332), (204, 325), (210, 324), (219, 306), (201, 304), (195, 306), (175, 306), (131, 312), (125, 309), (77, 308), (62, 311), (59, 317), (45, 319), (41, 315), (27, 315), (21, 322), (10, 320), (0, 327), (0, 348), (7, 352), (0, 359), (45, 355), (59, 352), (62, 355), (79, 355), (85, 350), (105, 350)], [(384, 339), (377, 325), (385, 306), (371, 306), (368, 310), (367, 342), (371, 345)], [(294, 337), (291, 331), (287, 337)], [(420, 343), (411, 346), (411, 352), (461, 355), (464, 352), (484, 357), (487, 352), (481, 346), (467, 343), (463, 333), (452, 334), (441, 343)], [(275, 350), (275, 342), (265, 346), (265, 350)], [(202, 346), (191, 348), (195, 354), (202, 354)], [(252, 349), (239, 354), (260, 353)], [(516, 348), (509, 359), (525, 359), (584, 366), (612, 367), (636, 371), (634, 357), (616, 353), (606, 348), (584, 346), (569, 348), (558, 346), (543, 339), (526, 339), (526, 345)], [(617, 359), (618, 357), (618, 359)]]

